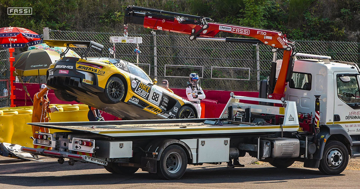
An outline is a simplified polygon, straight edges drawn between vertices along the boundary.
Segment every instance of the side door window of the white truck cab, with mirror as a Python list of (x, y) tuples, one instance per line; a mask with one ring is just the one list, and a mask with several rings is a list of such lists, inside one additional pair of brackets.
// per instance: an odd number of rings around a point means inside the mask
[(336, 79), (339, 99), (348, 105), (360, 102), (359, 84), (356, 76), (338, 76)]

